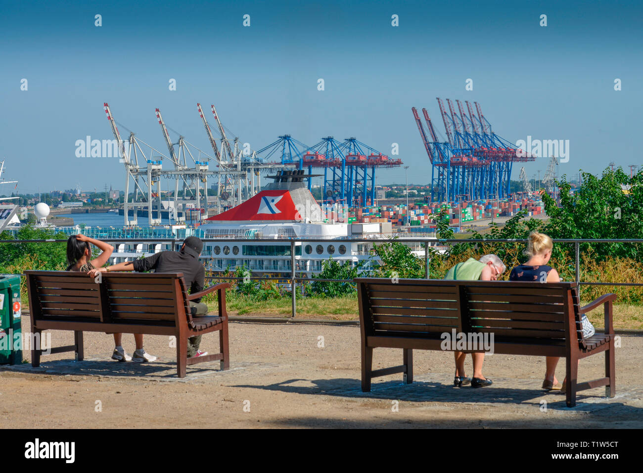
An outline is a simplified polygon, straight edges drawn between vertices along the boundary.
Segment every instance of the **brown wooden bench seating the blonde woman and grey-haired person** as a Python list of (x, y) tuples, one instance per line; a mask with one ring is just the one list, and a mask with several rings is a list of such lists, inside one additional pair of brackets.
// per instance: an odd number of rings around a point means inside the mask
[[(442, 334), (491, 337), (493, 352), (565, 357), (566, 403), (576, 392), (606, 386), (615, 395), (612, 302), (606, 294), (579, 307), (576, 283), (357, 278), (362, 391), (374, 377), (404, 373), (413, 382), (413, 350), (443, 350)], [(604, 305), (605, 332), (579, 341), (581, 315)], [(484, 335), (487, 334), (487, 335)], [(402, 348), (403, 364), (372, 370), (373, 348)], [(462, 350), (467, 353), (484, 352)], [(447, 350), (453, 351), (449, 345)], [(577, 382), (578, 360), (605, 352), (605, 377)]]

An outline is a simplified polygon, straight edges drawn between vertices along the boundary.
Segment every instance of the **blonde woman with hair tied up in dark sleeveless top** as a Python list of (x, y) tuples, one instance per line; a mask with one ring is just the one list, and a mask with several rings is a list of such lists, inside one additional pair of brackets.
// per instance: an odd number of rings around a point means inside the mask
[[(527, 249), (525, 254), (529, 256), (529, 260), (524, 264), (518, 265), (511, 270), (509, 274), (510, 281), (534, 281), (541, 283), (557, 283), (561, 280), (556, 269), (548, 266), (550, 258), (552, 257), (552, 249), (554, 249), (554, 242), (544, 233), (533, 231), (529, 234), (527, 241)], [(590, 321), (584, 316), (583, 319), (583, 337), (590, 337), (595, 332)], [(563, 384), (558, 383), (556, 379), (556, 365), (558, 364), (559, 357), (545, 357), (545, 380), (543, 381), (543, 389), (548, 391), (560, 389), (565, 391), (565, 381)]]

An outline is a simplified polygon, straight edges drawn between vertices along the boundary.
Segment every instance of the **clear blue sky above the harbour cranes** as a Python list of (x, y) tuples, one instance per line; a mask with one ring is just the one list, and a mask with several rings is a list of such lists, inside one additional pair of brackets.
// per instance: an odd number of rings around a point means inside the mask
[[(20, 192), (78, 183), (86, 190), (123, 188), (118, 159), (75, 156), (77, 139), (113, 138), (104, 102), (164, 154), (154, 109), (212, 154), (196, 103), (211, 125), (214, 103), (224, 125), (255, 149), (280, 134), (307, 145), (322, 136), (355, 136), (385, 154), (399, 143), (397, 157), (418, 184), (430, 181), (431, 166), (411, 107), (426, 107), (444, 135), (437, 96), (479, 102), (494, 131), (513, 143), (528, 135), (570, 140), (559, 174), (581, 168), (596, 174), (610, 161), (628, 173), (628, 165), (643, 165), (639, 2), (3, 0), (0, 6), (0, 158)], [(543, 13), (546, 27), (539, 26)], [(244, 14), (249, 27), (242, 26)], [(170, 78), (176, 91), (168, 90)], [(465, 90), (467, 78), (473, 91)], [(543, 175), (547, 158), (525, 168)], [(404, 182), (401, 168), (379, 176), (380, 184)]]

